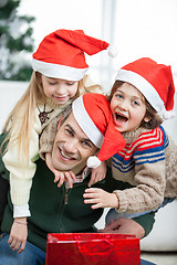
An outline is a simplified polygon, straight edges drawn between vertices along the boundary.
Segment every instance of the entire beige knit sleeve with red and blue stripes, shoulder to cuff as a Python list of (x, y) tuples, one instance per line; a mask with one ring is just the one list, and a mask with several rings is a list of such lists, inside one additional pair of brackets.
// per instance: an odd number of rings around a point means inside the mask
[[(126, 172), (121, 173), (123, 181), (129, 182), (134, 188), (114, 191), (119, 199), (119, 206), (116, 209), (118, 212), (145, 212), (156, 210), (163, 203), (167, 145), (168, 139), (159, 127), (143, 132), (132, 141), (125, 158)], [(124, 170), (123, 167), (121, 169)]]

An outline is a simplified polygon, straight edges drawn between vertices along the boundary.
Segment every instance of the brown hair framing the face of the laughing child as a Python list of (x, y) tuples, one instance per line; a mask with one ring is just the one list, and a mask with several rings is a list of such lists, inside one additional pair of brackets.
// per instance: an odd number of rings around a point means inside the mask
[[(124, 82), (122, 81), (115, 81), (115, 83), (113, 84), (113, 87), (111, 89), (111, 94), (108, 96), (108, 99), (111, 102), (114, 93), (116, 92), (116, 89), (123, 85)], [(159, 125), (163, 124), (163, 119), (162, 117), (159, 117), (159, 115), (157, 114), (157, 112), (154, 109), (154, 107), (152, 107), (152, 105), (147, 102), (147, 99), (143, 96), (144, 100), (145, 100), (145, 105), (146, 105), (146, 114), (145, 117), (150, 118), (149, 121), (145, 121), (144, 119), (142, 120), (140, 127), (144, 127), (146, 129), (155, 129), (157, 128)]]

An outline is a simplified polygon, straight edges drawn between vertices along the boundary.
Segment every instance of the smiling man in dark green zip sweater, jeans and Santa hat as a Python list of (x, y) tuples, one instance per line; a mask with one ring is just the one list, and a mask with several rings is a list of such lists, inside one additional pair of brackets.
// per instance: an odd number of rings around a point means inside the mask
[[(46, 167), (45, 161), (37, 160), (37, 172), (29, 202), (31, 218), (28, 219), (28, 241), (24, 244), (20, 242), (20, 243), (13, 240), (11, 242), (12, 250), (8, 244), (13, 222), (12, 204), (9, 197), (1, 225), (3, 233), (0, 240), (0, 265), (43, 264), (48, 233), (95, 232), (94, 223), (102, 216), (103, 209), (93, 210), (84, 203), (83, 193), (90, 181), (90, 174), (85, 168), (86, 161), (95, 153), (98, 153), (97, 156), (102, 160), (108, 159), (112, 152), (116, 152), (118, 148), (124, 146), (124, 139), (119, 134), (111, 130), (111, 134), (115, 134), (117, 141), (108, 141), (107, 153), (104, 159), (101, 156), (102, 147), (107, 140), (107, 128), (112, 124), (110, 105), (105, 98), (103, 95), (94, 97), (93, 94), (80, 97), (72, 105), (72, 112), (58, 127), (52, 149), (52, 163), (60, 170), (72, 169), (76, 176), (81, 177), (79, 183), (75, 183), (72, 189), (67, 189), (65, 184), (58, 188), (53, 182), (53, 173)], [(88, 114), (85, 108), (86, 103), (91, 104), (94, 112), (97, 109), (100, 113), (97, 115)], [(82, 112), (80, 105), (83, 106)], [(84, 119), (82, 118), (83, 114)], [(9, 172), (3, 168), (2, 161), (0, 161), (0, 173), (8, 178)], [(108, 171), (106, 180), (95, 183), (94, 187), (111, 191), (112, 181)], [(115, 189), (115, 183), (113, 187)], [(125, 226), (121, 224), (121, 233), (128, 232), (143, 237), (152, 230), (154, 214), (146, 214), (135, 220), (127, 220), (127, 222), (128, 224), (126, 223)], [(24, 248), (21, 254), (17, 253), (19, 247), (20, 250)]]

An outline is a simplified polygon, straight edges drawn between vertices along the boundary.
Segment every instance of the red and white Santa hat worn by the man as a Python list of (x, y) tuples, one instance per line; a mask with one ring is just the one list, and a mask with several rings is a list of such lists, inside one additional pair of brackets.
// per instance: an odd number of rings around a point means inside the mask
[(82, 130), (100, 148), (97, 157), (87, 159), (88, 168), (97, 168), (101, 161), (107, 160), (124, 148), (126, 141), (115, 129), (106, 96), (86, 93), (73, 102), (72, 110)]

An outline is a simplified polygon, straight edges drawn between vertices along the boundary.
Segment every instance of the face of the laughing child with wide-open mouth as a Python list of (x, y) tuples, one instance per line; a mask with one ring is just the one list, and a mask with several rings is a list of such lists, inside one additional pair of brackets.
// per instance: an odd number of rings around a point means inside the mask
[(135, 130), (145, 117), (146, 105), (142, 93), (135, 86), (123, 83), (111, 99), (111, 110), (115, 128), (121, 132)]

